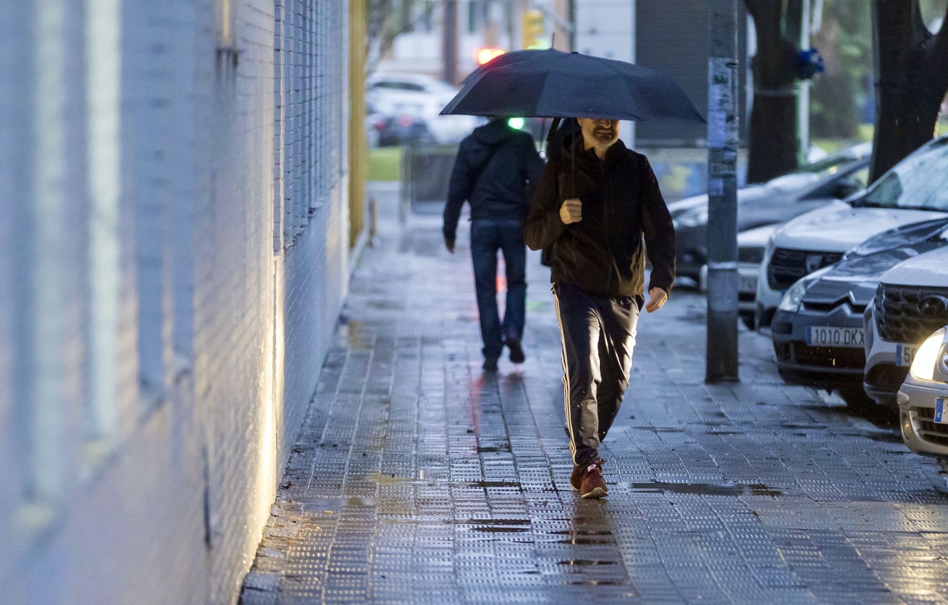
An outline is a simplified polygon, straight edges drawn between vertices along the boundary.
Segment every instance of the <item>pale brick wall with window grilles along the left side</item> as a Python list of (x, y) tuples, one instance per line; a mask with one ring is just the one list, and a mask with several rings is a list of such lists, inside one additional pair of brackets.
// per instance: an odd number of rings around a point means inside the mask
[(347, 288), (347, 3), (0, 4), (0, 601), (232, 603)]

